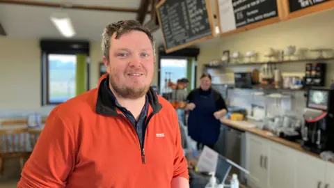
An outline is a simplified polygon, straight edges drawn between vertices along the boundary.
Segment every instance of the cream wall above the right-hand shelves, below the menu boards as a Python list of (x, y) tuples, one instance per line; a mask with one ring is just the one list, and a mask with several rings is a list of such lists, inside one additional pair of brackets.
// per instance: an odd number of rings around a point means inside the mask
[[(334, 49), (334, 10), (317, 13), (297, 19), (292, 19), (270, 26), (246, 31), (221, 39), (219, 52), (229, 49), (230, 52), (239, 51), (245, 54), (253, 50), (259, 54), (257, 61), (268, 61), (264, 57), (269, 47), (276, 50), (284, 50), (288, 45), (295, 45), (299, 48), (331, 48)], [(219, 53), (218, 52), (218, 53)], [(219, 54), (221, 54), (219, 53)], [(297, 53), (297, 52), (296, 52)], [(334, 55), (327, 54), (327, 56)], [(308, 53), (307, 58), (315, 58), (317, 53)], [(293, 58), (292, 58), (293, 59)], [(305, 63), (285, 63), (278, 68), (283, 72), (304, 72)], [(334, 73), (333, 61), (328, 61), (327, 86), (330, 84), (331, 75)], [(231, 68), (231, 71), (253, 70), (255, 66), (242, 66)], [(256, 67), (257, 69), (260, 66)]]

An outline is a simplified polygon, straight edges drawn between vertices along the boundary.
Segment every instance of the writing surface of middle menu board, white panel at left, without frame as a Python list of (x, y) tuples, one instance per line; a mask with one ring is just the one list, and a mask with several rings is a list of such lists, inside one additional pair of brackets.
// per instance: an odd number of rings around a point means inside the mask
[(277, 1), (282, 0), (216, 0), (221, 33), (278, 17)]

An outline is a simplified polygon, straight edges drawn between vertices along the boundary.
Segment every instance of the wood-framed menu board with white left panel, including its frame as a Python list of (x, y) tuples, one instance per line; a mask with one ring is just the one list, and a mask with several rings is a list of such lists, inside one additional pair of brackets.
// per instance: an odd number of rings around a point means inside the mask
[(280, 22), (285, 0), (215, 0), (221, 36)]

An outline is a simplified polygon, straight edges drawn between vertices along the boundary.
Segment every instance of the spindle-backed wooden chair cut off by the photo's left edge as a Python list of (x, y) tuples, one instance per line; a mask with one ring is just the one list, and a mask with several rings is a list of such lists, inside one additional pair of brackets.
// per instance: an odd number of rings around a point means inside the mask
[(3, 175), (3, 164), (5, 159), (19, 157), (21, 170), (24, 159), (29, 157), (27, 151), (27, 129), (1, 127), (0, 129), (0, 175)]

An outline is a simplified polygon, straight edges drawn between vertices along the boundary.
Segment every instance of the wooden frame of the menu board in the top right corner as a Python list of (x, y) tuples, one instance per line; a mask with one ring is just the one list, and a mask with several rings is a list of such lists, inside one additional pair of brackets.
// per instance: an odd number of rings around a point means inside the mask
[(287, 19), (294, 19), (296, 17), (301, 17), (304, 15), (317, 13), (322, 10), (334, 9), (334, 0), (330, 0), (330, 1), (326, 1), (323, 3), (319, 3), (316, 5), (310, 6), (308, 8), (302, 8), (300, 10), (296, 10), (290, 13), (289, 1), (292, 1), (292, 0), (282, 0), (282, 1), (284, 1), (286, 9), (287, 9)]

